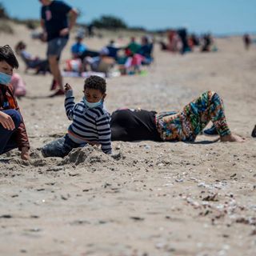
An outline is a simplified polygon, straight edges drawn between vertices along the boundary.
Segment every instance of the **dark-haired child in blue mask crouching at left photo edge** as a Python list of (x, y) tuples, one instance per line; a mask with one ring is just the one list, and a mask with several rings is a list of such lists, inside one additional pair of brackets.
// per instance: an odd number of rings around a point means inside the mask
[(13, 50), (0, 46), (0, 154), (18, 147), (21, 158), (28, 160), (30, 143), (10, 84), (14, 68), (18, 68), (18, 61)]

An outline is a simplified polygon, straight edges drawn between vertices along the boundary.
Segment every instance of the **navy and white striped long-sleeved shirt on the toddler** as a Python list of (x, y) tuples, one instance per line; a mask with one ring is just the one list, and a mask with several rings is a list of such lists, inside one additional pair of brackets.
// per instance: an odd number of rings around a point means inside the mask
[(73, 121), (68, 129), (71, 139), (76, 138), (76, 141), (79, 142), (101, 144), (102, 151), (111, 154), (110, 114), (103, 106), (89, 108), (83, 101), (75, 104), (73, 90), (68, 90), (65, 109), (66, 116)]

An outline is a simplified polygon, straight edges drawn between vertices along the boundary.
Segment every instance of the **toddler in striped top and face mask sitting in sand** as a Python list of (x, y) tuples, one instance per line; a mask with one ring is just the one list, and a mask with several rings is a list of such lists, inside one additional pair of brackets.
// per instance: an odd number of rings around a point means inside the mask
[(86, 78), (83, 93), (82, 101), (75, 104), (73, 90), (66, 84), (66, 116), (72, 123), (63, 138), (42, 147), (44, 157), (64, 157), (86, 144), (100, 145), (104, 153), (111, 154), (110, 114), (103, 107), (105, 79), (96, 75)]

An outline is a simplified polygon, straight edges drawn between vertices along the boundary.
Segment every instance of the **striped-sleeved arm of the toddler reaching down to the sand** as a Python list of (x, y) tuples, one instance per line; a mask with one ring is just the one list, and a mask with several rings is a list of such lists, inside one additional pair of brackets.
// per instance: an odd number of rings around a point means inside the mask
[(112, 154), (109, 114), (104, 114), (96, 119), (96, 126), (98, 130), (98, 142), (102, 145), (102, 151), (106, 154)]

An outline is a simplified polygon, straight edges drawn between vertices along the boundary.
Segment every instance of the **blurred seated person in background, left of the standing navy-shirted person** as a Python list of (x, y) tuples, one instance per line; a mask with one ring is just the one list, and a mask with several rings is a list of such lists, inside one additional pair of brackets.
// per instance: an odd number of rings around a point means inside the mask
[(22, 60), (26, 64), (26, 70), (34, 69), (35, 74), (43, 73), (46, 74), (47, 71), (50, 72), (49, 62), (47, 59), (40, 59), (38, 57), (33, 57), (26, 51), (26, 44), (22, 41), (18, 42), (15, 46), (15, 51), (21, 56)]

